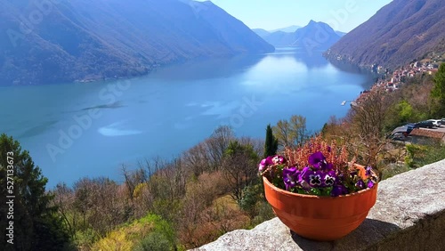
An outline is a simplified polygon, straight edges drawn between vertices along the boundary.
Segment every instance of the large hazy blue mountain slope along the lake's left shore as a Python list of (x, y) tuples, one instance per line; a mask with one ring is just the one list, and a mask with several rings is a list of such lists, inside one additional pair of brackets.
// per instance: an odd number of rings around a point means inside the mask
[(0, 85), (134, 77), (172, 62), (273, 51), (211, 2), (0, 0)]

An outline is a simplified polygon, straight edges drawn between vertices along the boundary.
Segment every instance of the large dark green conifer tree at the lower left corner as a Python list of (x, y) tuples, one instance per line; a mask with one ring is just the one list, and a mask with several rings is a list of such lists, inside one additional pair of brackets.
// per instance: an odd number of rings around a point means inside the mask
[[(63, 250), (69, 236), (51, 206), (53, 196), (45, 191), (48, 182), (34, 166), (27, 150), (6, 134), (0, 135), (0, 219), (3, 231), (13, 226), (12, 236), (2, 235), (0, 250)], [(7, 198), (7, 196), (9, 196)], [(13, 196), (13, 197), (12, 197)], [(6, 201), (4, 201), (6, 200)], [(12, 209), (6, 202), (11, 202)], [(2, 231), (2, 232), (3, 232)]]

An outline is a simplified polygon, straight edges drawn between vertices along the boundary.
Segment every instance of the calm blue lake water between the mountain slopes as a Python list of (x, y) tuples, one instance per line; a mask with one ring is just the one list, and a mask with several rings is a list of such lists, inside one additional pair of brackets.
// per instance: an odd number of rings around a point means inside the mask
[(120, 180), (122, 164), (172, 158), (229, 125), (238, 136), (263, 138), (265, 127), (294, 114), (317, 131), (343, 117), (372, 84), (321, 54), (292, 49), (190, 62), (147, 77), (88, 84), (0, 88), (0, 131), (20, 141), (49, 178), (72, 184), (84, 176)]

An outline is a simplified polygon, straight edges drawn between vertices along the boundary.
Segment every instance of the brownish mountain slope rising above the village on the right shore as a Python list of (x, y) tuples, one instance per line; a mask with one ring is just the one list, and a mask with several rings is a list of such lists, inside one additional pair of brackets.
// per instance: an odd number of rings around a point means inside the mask
[(443, 0), (394, 0), (343, 36), (326, 56), (393, 69), (426, 53), (445, 53), (444, 13)]

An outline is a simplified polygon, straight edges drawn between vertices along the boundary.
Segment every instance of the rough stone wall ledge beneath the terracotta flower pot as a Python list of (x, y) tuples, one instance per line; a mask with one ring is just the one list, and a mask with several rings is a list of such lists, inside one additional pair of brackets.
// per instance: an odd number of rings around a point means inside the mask
[(194, 250), (445, 250), (445, 160), (380, 182), (367, 219), (343, 239), (303, 239), (274, 218)]

